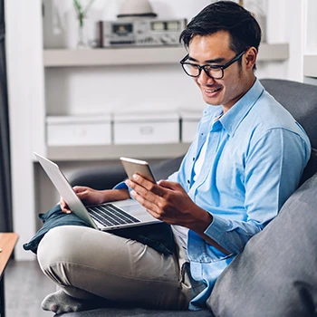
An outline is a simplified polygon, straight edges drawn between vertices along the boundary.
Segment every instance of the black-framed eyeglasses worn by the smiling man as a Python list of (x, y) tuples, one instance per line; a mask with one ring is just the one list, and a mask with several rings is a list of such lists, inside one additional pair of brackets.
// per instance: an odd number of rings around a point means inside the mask
[(231, 61), (226, 62), (225, 65), (197, 65), (196, 63), (186, 62), (189, 54), (187, 54), (181, 61), (180, 64), (183, 67), (184, 72), (190, 77), (199, 77), (201, 70), (206, 72), (207, 76), (213, 79), (222, 79), (224, 77), (224, 71), (234, 62), (240, 60), (240, 58), (245, 53), (241, 52), (237, 54)]

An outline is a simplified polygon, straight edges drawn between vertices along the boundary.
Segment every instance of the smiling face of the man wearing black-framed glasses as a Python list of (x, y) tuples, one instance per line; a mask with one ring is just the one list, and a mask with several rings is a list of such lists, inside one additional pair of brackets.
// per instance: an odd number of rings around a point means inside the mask
[[(226, 31), (216, 34), (193, 37), (188, 47), (188, 62), (198, 65), (224, 65), (235, 58), (236, 53), (229, 48), (230, 35)], [(242, 56), (242, 65), (234, 62), (224, 70), (224, 77), (214, 80), (202, 70), (199, 77), (194, 78), (204, 101), (210, 105), (222, 104), (224, 110), (229, 110), (238, 101), (251, 84), (255, 75), (245, 67), (245, 54)], [(252, 82), (250, 84), (250, 82)]]

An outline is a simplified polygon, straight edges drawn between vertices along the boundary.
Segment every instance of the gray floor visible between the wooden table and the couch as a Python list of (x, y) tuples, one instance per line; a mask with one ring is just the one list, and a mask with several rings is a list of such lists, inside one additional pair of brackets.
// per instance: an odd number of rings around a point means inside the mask
[(10, 260), (5, 269), (5, 316), (52, 317), (41, 302), (55, 285), (42, 273), (36, 261)]

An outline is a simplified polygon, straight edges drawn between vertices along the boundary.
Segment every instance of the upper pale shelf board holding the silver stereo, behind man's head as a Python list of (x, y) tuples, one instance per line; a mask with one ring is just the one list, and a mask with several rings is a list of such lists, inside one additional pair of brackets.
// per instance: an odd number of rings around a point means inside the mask
[[(44, 67), (110, 66), (178, 63), (186, 54), (177, 47), (133, 47), (82, 50), (44, 50)], [(285, 61), (289, 56), (287, 43), (261, 43), (258, 61)]]

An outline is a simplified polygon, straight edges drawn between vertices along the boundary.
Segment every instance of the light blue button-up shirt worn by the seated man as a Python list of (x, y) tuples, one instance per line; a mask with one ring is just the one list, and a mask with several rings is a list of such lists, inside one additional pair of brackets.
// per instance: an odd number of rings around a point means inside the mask
[[(298, 187), (311, 153), (303, 128), (258, 80), (215, 121), (221, 113), (221, 106), (207, 106), (196, 139), (178, 172), (168, 178), (180, 183), (213, 216), (205, 234), (231, 254), (223, 254), (189, 230), (191, 274), (207, 284), (191, 302), (191, 309), (206, 305), (219, 274), (277, 216)], [(195, 162), (206, 141), (205, 159), (194, 181)]]

